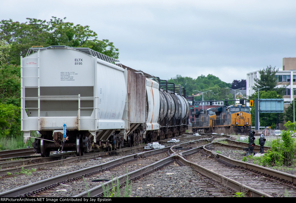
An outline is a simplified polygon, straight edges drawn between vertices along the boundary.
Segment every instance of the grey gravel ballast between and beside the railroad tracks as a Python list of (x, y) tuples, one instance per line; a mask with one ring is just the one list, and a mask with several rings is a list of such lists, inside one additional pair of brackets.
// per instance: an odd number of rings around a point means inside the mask
[[(247, 136), (233, 136), (233, 140), (237, 137)], [(272, 137), (266, 137), (267, 139), (274, 139)], [(189, 142), (189, 140), (183, 141)], [(181, 143), (181, 142), (179, 142)], [(179, 144), (178, 143), (178, 144)], [(221, 154), (231, 157), (233, 159), (242, 160), (244, 152), (240, 150), (229, 150), (224, 147), (213, 147), (213, 151), (220, 151)], [(81, 168), (98, 165), (101, 163), (108, 162), (110, 160), (117, 159), (126, 155), (139, 153), (139, 150), (132, 150), (129, 152), (120, 152), (117, 156), (107, 156), (102, 158), (94, 158), (89, 160), (80, 160), (72, 163), (66, 163), (62, 166), (44, 168), (31, 172), (31, 175), (12, 175), (12, 177), (0, 178), (0, 192), (7, 191), (25, 184), (40, 181), (49, 177), (57, 176), (62, 173), (79, 170)], [(252, 162), (252, 160), (248, 160)], [(295, 174), (295, 171), (285, 171)], [(148, 176), (136, 180), (132, 183), (132, 197), (210, 197), (212, 196), (209, 192), (201, 189), (198, 186), (200, 181), (197, 172), (189, 167), (180, 167), (176, 163), (170, 164), (169, 166), (159, 170), (155, 173), (149, 174)], [(97, 183), (99, 184), (99, 183)], [(79, 191), (81, 186), (75, 185), (75, 183), (68, 184), (70, 186), (58, 186), (55, 190), (62, 189), (62, 191), (54, 191), (54, 196), (71, 196), (72, 193), (69, 191)], [(69, 187), (71, 189), (69, 189)], [(77, 187), (77, 188), (75, 188)], [(66, 191), (65, 191), (66, 190)], [(52, 192), (52, 191), (51, 191)]]

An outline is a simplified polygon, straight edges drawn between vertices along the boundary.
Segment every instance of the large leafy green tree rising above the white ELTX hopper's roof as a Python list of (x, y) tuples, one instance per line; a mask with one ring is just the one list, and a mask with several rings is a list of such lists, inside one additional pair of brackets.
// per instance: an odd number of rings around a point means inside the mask
[(28, 22), (0, 21), (0, 39), (11, 46), (9, 63), (20, 64), (31, 46), (89, 47), (112, 58), (118, 58), (119, 50), (107, 39), (98, 40), (88, 25), (75, 25), (65, 19), (52, 17), (49, 21), (27, 18)]

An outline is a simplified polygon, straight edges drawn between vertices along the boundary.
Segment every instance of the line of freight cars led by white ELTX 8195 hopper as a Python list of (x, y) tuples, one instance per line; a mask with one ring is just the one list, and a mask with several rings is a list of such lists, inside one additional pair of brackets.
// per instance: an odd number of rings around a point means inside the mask
[(124, 66), (90, 48), (33, 47), (21, 57), (21, 130), (34, 149), (110, 151), (183, 134), (189, 105), (181, 86)]

